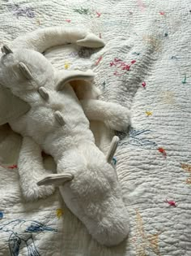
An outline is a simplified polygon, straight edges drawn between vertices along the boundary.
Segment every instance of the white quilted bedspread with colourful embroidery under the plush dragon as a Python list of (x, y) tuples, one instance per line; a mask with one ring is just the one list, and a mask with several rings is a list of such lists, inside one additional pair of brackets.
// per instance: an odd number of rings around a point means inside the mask
[[(101, 99), (131, 108), (115, 158), (130, 233), (98, 245), (58, 191), (24, 202), (21, 137), (0, 128), (0, 255), (191, 255), (191, 4), (189, 0), (0, 1), (0, 44), (36, 28), (83, 27), (106, 46), (55, 47), (54, 67), (96, 72)], [(50, 159), (47, 164), (50, 165)]]

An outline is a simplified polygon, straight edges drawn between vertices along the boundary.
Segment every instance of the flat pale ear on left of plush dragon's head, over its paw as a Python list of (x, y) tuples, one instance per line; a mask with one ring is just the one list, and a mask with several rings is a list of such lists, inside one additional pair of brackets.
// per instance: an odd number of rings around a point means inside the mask
[(69, 182), (74, 179), (74, 175), (71, 173), (62, 173), (62, 174), (50, 174), (44, 179), (37, 182), (38, 186), (54, 184), (56, 186), (61, 186), (62, 184)]

